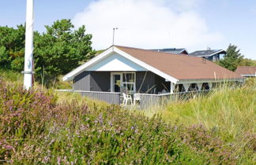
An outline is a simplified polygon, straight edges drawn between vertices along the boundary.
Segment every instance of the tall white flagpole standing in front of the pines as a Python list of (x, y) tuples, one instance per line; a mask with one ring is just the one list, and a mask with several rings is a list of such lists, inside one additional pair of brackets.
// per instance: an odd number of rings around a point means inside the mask
[(24, 57), (24, 89), (32, 87), (33, 75), (33, 24), (34, 24), (34, 0), (27, 0), (26, 36)]

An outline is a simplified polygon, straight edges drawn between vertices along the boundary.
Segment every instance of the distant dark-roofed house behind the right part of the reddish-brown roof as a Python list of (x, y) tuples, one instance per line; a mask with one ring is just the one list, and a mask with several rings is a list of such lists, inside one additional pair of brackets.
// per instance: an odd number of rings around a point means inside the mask
[(226, 51), (223, 49), (206, 49), (206, 50), (198, 50), (193, 53), (190, 53), (190, 56), (194, 57), (203, 57), (208, 61), (220, 61), (221, 58), (224, 57)]

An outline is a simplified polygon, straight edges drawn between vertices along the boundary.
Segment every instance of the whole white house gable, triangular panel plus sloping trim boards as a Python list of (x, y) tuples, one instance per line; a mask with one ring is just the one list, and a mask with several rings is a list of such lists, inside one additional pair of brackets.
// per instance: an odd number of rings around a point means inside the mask
[(92, 58), (92, 60), (82, 64), (80, 67), (75, 68), (72, 72), (64, 75), (63, 81), (68, 81), (74, 78), (74, 76), (80, 74), (83, 71), (109, 71), (109, 72), (136, 72), (136, 71), (150, 71), (156, 75), (160, 75), (167, 81), (177, 83), (178, 79), (167, 75), (164, 72), (153, 68), (149, 64), (145, 64), (143, 61), (139, 61), (136, 58), (130, 56), (130, 54), (123, 52), (122, 50), (111, 46), (103, 53)]

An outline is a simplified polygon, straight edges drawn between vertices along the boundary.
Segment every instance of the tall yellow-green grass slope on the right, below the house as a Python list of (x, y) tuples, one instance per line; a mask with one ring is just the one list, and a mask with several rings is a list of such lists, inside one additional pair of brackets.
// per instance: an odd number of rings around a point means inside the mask
[(206, 96), (190, 101), (169, 102), (144, 110), (146, 116), (160, 115), (168, 123), (201, 124), (228, 144), (244, 152), (250, 145), (256, 159), (256, 79), (247, 79), (242, 87), (220, 86)]

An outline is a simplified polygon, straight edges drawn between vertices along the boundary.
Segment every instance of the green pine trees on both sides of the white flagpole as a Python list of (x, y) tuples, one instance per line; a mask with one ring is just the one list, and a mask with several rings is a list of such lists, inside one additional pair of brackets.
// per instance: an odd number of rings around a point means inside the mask
[[(81, 62), (94, 57), (92, 35), (85, 33), (85, 26), (74, 29), (71, 20), (57, 20), (45, 26), (46, 32), (34, 32), (34, 64), (36, 79), (55, 79), (64, 75)], [(0, 66), (21, 72), (24, 69), (25, 26), (0, 27)]]

